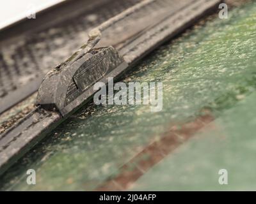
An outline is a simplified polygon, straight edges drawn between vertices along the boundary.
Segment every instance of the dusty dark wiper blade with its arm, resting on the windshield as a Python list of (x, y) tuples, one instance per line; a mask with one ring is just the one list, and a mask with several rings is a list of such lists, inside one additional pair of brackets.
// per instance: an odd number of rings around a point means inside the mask
[(93, 29), (77, 52), (46, 75), (38, 90), (36, 110), (0, 136), (0, 173), (87, 103), (96, 92), (95, 83), (106, 84), (109, 77), (120, 77), (148, 52), (217, 8), (218, 3), (142, 1)]

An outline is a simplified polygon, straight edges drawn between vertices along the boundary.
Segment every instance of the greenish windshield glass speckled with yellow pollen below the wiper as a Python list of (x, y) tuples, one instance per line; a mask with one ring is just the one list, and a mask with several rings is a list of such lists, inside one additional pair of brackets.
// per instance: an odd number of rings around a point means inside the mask
[[(237, 174), (253, 169), (255, 13), (249, 3), (227, 20), (212, 15), (126, 75), (126, 84), (163, 82), (161, 112), (90, 103), (20, 159), (1, 189), (220, 190), (212, 173), (221, 165)], [(35, 186), (20, 179), (28, 168)], [(249, 184), (247, 176), (240, 178)]]

